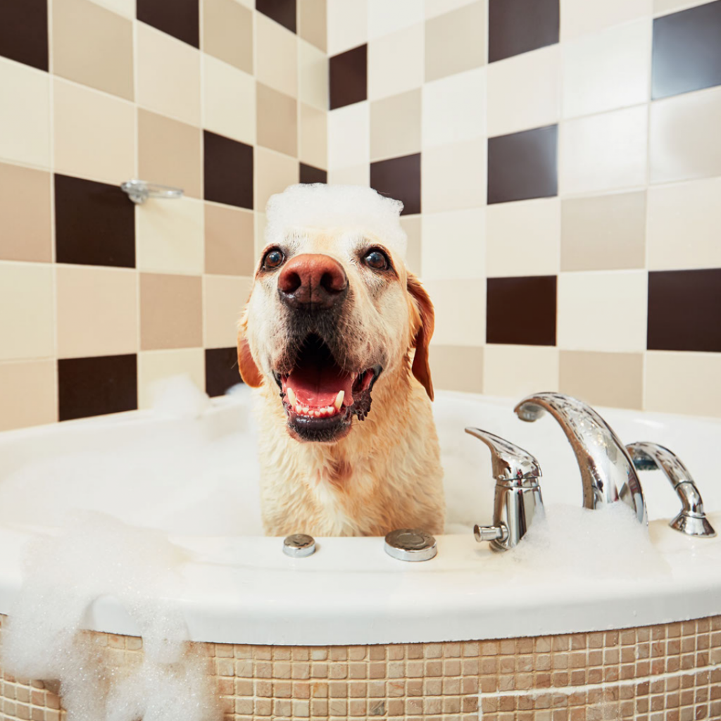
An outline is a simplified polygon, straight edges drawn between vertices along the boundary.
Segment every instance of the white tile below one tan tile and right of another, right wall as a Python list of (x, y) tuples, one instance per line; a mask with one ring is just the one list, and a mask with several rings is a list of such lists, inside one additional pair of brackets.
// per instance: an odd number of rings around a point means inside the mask
[(423, 86), (423, 148), (485, 137), (485, 68)]

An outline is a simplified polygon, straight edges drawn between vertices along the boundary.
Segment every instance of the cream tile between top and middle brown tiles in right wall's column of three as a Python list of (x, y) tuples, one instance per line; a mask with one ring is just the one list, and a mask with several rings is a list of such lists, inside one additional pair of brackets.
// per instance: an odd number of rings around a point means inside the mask
[(561, 104), (559, 46), (491, 63), (487, 87), (490, 137), (556, 123)]

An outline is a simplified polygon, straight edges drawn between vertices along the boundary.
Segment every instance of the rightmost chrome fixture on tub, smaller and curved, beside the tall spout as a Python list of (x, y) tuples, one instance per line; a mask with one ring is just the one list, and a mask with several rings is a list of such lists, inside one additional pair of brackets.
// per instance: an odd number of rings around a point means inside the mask
[(716, 531), (704, 513), (704, 501), (689, 469), (678, 456), (658, 443), (629, 443), (626, 446), (634, 466), (639, 471), (662, 470), (673, 486), (684, 507), (673, 521), (668, 523), (675, 531), (687, 536), (713, 538)]

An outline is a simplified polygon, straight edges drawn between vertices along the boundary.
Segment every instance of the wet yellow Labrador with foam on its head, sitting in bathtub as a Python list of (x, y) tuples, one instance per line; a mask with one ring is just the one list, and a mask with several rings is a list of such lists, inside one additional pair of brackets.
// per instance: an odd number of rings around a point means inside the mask
[(368, 187), (268, 201), (238, 336), (242, 379), (260, 389), (267, 535), (443, 532), (433, 304), (405, 266), (401, 210)]

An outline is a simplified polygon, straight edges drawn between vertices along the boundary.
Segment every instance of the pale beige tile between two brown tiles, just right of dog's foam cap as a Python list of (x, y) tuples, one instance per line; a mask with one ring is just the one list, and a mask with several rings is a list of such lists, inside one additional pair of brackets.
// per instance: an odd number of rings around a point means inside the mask
[(486, 141), (437, 146), (421, 154), (424, 213), (479, 208), (486, 204)]

